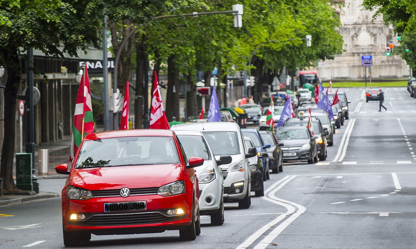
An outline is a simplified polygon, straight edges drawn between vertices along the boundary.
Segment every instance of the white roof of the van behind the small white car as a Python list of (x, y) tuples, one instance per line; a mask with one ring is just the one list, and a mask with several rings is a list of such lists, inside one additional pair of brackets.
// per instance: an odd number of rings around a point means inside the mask
[(181, 123), (171, 127), (171, 130), (187, 131), (239, 131), (240, 127), (235, 122), (198, 122)]

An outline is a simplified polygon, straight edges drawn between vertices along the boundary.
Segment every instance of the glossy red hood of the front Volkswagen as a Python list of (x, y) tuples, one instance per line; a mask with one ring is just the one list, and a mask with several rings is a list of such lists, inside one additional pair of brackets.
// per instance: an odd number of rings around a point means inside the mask
[(160, 187), (178, 180), (181, 165), (135, 165), (73, 169), (71, 185), (88, 190)]

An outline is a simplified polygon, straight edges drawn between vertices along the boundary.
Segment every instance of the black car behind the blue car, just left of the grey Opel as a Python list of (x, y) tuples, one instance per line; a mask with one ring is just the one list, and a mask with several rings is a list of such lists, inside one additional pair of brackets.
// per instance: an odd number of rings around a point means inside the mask
[(270, 131), (260, 131), (260, 136), (265, 143), (270, 143), (270, 148), (267, 149), (269, 156), (269, 167), (272, 173), (283, 172), (283, 143), (280, 143), (276, 135)]

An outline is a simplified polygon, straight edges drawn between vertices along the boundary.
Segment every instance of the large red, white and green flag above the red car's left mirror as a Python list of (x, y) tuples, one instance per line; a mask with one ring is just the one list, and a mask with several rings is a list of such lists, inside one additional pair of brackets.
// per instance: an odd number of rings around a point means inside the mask
[(72, 161), (85, 135), (94, 132), (94, 117), (92, 116), (91, 90), (89, 89), (88, 67), (79, 82), (77, 102), (75, 103), (74, 125), (72, 126), (72, 142), (69, 160)]

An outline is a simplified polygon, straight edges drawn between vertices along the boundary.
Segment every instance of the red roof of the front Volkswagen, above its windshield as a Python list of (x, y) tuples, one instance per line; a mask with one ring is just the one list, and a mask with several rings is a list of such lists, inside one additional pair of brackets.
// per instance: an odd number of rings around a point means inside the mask
[(173, 137), (173, 134), (174, 133), (170, 130), (156, 130), (156, 129), (104, 131), (104, 132), (99, 132), (99, 133), (88, 134), (84, 138), (84, 140), (96, 140), (96, 139), (119, 138), (119, 137), (137, 137), (137, 136)]

